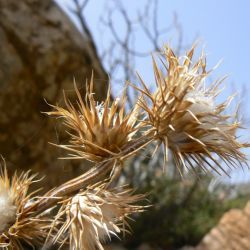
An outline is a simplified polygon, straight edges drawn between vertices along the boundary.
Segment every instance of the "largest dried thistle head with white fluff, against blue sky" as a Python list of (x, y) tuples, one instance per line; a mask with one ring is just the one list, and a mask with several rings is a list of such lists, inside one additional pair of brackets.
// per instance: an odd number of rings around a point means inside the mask
[(143, 88), (139, 89), (139, 105), (146, 111), (144, 124), (150, 128), (146, 135), (154, 134), (164, 146), (165, 159), (168, 149), (172, 151), (181, 173), (183, 168), (196, 171), (195, 166), (205, 172), (212, 168), (226, 173), (223, 164), (231, 168), (246, 163), (240, 149), (247, 145), (237, 140), (237, 115), (225, 114), (232, 98), (219, 105), (215, 102), (223, 79), (206, 87), (210, 73), (206, 58), (202, 54), (192, 61), (193, 54), (194, 47), (179, 58), (166, 46), (161, 65), (153, 59), (155, 93), (140, 78)]

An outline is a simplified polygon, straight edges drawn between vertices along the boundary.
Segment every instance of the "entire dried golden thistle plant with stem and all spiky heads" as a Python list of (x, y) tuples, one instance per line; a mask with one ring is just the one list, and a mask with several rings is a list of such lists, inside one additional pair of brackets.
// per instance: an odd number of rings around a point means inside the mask
[(85, 101), (75, 85), (76, 105), (65, 97), (66, 107), (52, 106), (48, 114), (62, 118), (69, 134), (69, 142), (58, 145), (69, 152), (64, 158), (95, 165), (35, 198), (28, 193), (34, 176), (25, 173), (10, 180), (5, 169), (0, 177), (0, 246), (22, 249), (25, 243), (52, 242), (70, 249), (103, 249), (106, 240), (129, 230), (129, 216), (145, 208), (138, 205), (143, 195), (110, 184), (119, 163), (149, 143), (163, 145), (166, 163), (171, 152), (181, 174), (183, 169), (227, 174), (224, 166), (247, 164), (241, 149), (248, 144), (236, 136), (237, 114), (225, 113), (231, 98), (216, 104), (221, 80), (206, 87), (210, 71), (205, 57), (193, 62), (193, 54), (194, 48), (179, 58), (166, 47), (161, 64), (153, 60), (156, 90), (151, 92), (140, 78), (143, 87), (134, 85), (140, 96), (130, 111), (125, 91), (113, 100), (109, 89), (98, 104), (93, 77)]

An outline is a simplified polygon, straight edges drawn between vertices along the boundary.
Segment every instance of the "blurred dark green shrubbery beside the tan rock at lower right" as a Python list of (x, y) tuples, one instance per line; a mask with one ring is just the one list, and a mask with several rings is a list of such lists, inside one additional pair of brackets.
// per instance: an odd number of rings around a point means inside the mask
[(132, 223), (127, 247), (134, 249), (142, 242), (153, 249), (195, 246), (223, 213), (244, 207), (250, 198), (250, 193), (227, 184), (212, 186), (212, 176), (182, 182), (163, 176), (144, 184), (138, 191), (149, 192), (154, 205)]

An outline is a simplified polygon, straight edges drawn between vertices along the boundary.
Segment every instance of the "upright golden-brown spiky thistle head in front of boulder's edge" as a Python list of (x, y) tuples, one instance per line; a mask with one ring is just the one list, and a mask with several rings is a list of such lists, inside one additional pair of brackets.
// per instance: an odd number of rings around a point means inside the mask
[[(88, 86), (88, 85), (87, 85)], [(137, 128), (137, 108), (125, 114), (126, 93), (114, 101), (110, 89), (104, 102), (98, 104), (93, 94), (93, 77), (90, 88), (86, 90), (86, 102), (75, 85), (78, 97), (77, 107), (65, 97), (66, 108), (53, 106), (55, 111), (48, 112), (63, 118), (69, 128), (69, 145), (59, 145), (71, 152), (67, 158), (84, 158), (100, 162), (108, 157), (115, 157), (126, 147)]]

